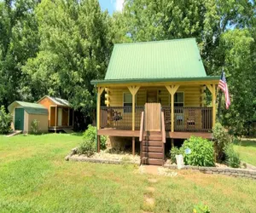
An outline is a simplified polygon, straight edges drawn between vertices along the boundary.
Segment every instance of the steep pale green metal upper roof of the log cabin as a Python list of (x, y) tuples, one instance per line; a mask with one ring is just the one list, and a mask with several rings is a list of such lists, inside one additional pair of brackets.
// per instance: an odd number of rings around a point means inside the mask
[(195, 38), (115, 44), (105, 80), (207, 77)]

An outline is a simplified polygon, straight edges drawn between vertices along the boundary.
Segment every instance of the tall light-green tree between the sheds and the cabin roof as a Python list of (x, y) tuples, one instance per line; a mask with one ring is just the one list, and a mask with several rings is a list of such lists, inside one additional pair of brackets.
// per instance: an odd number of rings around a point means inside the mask
[(59, 96), (90, 114), (96, 100), (90, 81), (104, 78), (112, 48), (108, 13), (96, 0), (43, 0), (37, 18), (40, 51), (22, 68), (26, 93), (33, 101)]

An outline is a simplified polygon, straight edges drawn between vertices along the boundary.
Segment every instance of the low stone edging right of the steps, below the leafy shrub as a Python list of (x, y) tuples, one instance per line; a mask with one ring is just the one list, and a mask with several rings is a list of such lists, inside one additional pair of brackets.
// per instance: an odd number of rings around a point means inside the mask
[[(177, 165), (165, 164), (164, 167), (177, 170)], [(241, 176), (256, 179), (256, 170), (244, 170), (235, 168), (220, 168), (220, 167), (203, 167), (203, 166), (192, 166), (185, 165), (182, 170), (198, 170), (205, 174), (219, 174), (225, 176)]]

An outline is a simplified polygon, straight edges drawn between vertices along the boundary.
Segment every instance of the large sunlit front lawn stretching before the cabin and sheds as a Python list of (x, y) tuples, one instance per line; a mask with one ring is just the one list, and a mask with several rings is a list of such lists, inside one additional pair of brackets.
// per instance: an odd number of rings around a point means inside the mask
[[(202, 202), (211, 212), (256, 212), (256, 181), (185, 170), (176, 177), (141, 175), (132, 165), (65, 161), (79, 141), (79, 135), (0, 135), (0, 211), (192, 212)], [(155, 203), (145, 204), (145, 195)]]

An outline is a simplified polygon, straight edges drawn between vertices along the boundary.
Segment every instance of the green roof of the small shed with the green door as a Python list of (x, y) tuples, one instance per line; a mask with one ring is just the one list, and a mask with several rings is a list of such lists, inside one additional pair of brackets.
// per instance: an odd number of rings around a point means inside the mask
[(9, 112), (13, 112), (15, 107), (22, 107), (28, 114), (41, 114), (48, 115), (48, 109), (41, 104), (25, 102), (25, 101), (14, 101), (8, 107)]

